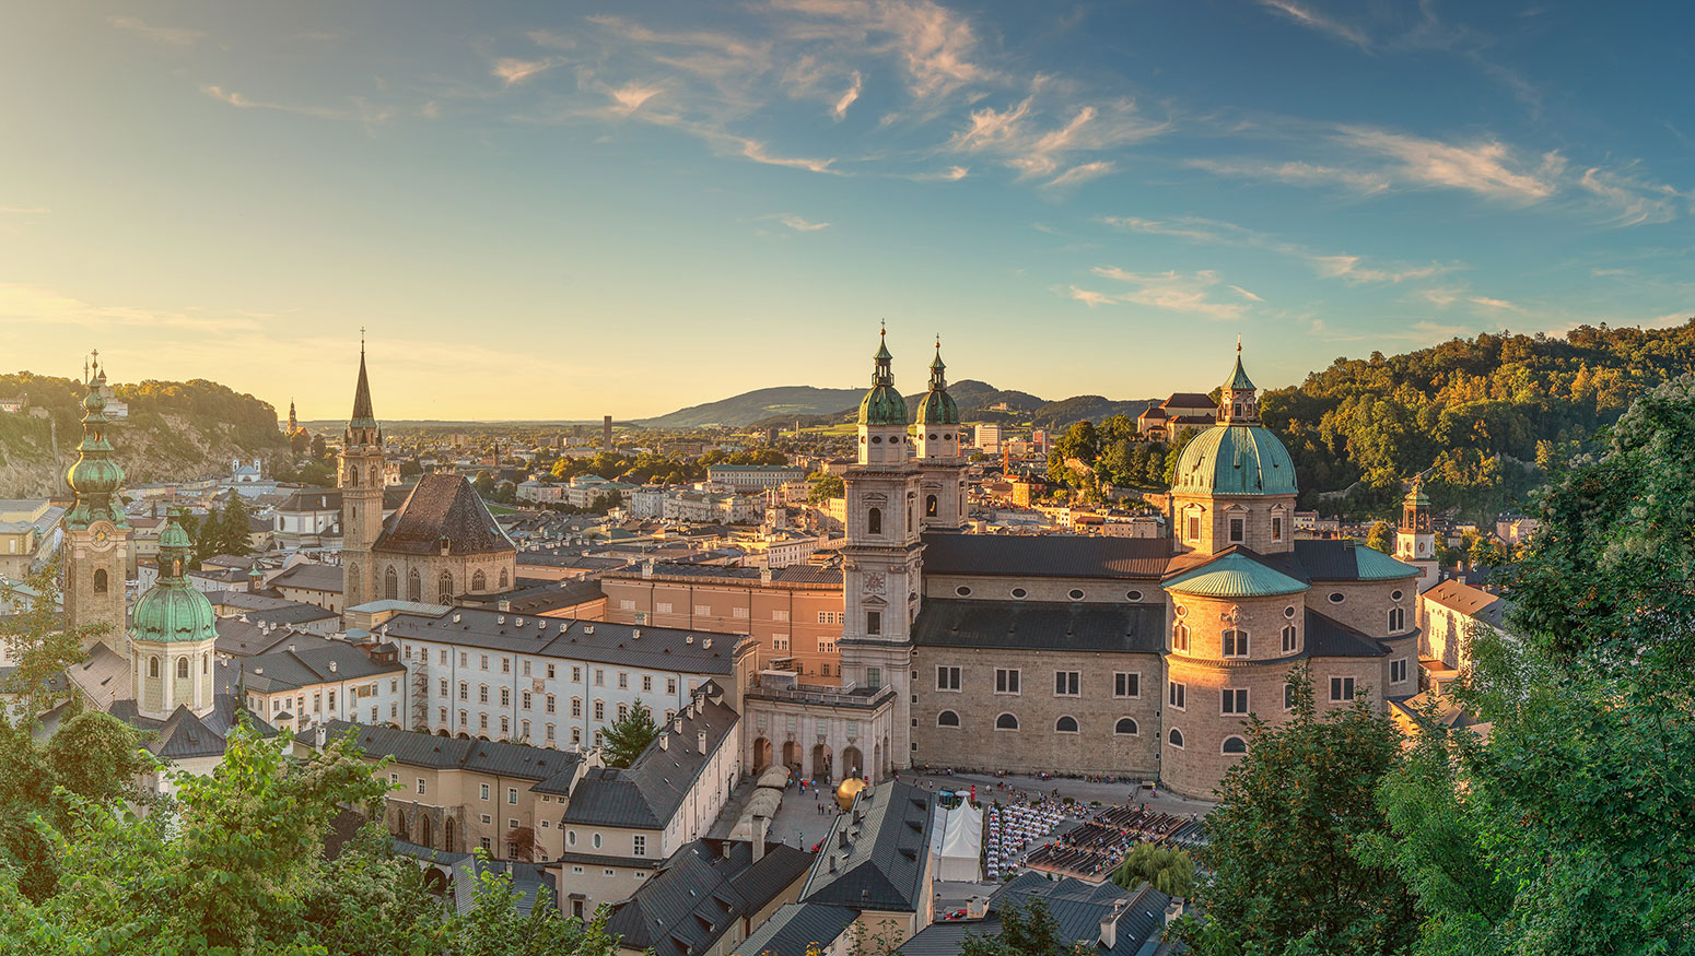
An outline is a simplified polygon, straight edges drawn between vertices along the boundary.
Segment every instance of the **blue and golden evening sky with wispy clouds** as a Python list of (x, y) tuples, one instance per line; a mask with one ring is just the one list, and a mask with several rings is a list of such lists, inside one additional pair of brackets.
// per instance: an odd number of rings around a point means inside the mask
[(344, 418), (1058, 399), (1695, 315), (1695, 7), (15, 3), (0, 369)]

